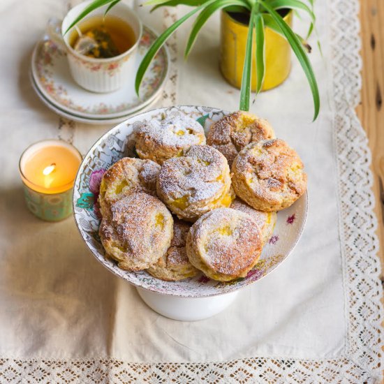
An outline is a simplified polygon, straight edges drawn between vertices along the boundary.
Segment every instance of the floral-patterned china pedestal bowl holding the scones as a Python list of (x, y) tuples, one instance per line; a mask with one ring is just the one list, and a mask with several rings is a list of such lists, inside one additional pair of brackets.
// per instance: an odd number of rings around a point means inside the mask
[(266, 276), (293, 251), (307, 219), (307, 193), (291, 207), (277, 214), (276, 227), (256, 266), (244, 279), (221, 283), (200, 274), (183, 281), (162, 281), (145, 271), (128, 272), (105, 258), (98, 236), (101, 216), (98, 208), (98, 189), (106, 169), (124, 156), (132, 156), (133, 128), (143, 121), (161, 119), (164, 115), (182, 113), (196, 119), (205, 131), (212, 122), (228, 112), (200, 106), (159, 108), (130, 117), (105, 133), (91, 147), (80, 165), (73, 191), (73, 214), (80, 235), (91, 253), (110, 272), (138, 288), (140, 297), (158, 313), (177, 320), (200, 320), (219, 313), (235, 300), (239, 289)]

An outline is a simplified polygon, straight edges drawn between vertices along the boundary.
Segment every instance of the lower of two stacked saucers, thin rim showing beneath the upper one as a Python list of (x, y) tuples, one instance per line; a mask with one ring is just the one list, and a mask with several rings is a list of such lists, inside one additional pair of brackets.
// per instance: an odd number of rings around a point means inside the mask
[[(40, 92), (40, 89), (38, 88), (32, 73), (29, 74), (29, 80), (31, 81), (32, 88), (36, 92), (38, 98), (40, 98), (40, 101), (42, 101), (47, 106), (47, 108), (55, 112), (57, 115), (65, 117), (66, 119), (70, 119), (73, 121), (78, 121), (80, 123), (86, 123), (86, 124), (103, 125), (103, 124), (120, 123), (121, 121), (124, 121), (125, 119), (127, 119), (129, 115), (131, 115), (131, 114), (128, 114), (121, 117), (112, 117), (112, 118), (97, 117), (96, 119), (92, 119), (90, 117), (81, 117), (75, 114), (71, 114), (64, 110), (61, 110), (56, 105), (52, 104), (47, 98), (45, 98), (45, 96)], [(145, 108), (149, 107), (149, 105), (152, 105), (153, 103), (155, 103), (160, 96), (161, 94), (158, 94), (153, 100), (149, 101), (148, 104), (143, 105), (140, 110), (137, 110), (135, 112), (141, 112)]]

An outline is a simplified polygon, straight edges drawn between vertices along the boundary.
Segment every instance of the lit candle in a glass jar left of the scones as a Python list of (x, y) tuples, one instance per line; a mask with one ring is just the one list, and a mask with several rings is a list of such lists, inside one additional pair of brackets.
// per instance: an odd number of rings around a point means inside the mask
[(40, 219), (59, 221), (72, 212), (73, 183), (82, 156), (62, 140), (43, 140), (20, 157), (20, 175), (29, 210)]

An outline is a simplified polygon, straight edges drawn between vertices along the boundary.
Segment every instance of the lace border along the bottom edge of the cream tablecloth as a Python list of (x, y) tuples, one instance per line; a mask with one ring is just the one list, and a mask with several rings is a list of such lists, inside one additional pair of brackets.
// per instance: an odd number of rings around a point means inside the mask
[[(5, 383), (375, 383), (346, 358), (337, 360), (242, 359), (196, 364), (135, 364), (120, 360), (0, 359)], [(27, 382), (27, 381), (26, 381)]]

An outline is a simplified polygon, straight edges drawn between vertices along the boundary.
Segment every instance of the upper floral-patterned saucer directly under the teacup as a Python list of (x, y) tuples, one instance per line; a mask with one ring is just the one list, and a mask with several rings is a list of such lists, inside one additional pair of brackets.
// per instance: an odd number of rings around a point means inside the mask
[[(157, 34), (152, 29), (143, 27), (135, 73), (140, 61), (156, 38)], [(124, 117), (152, 103), (165, 84), (168, 68), (169, 55), (163, 46), (145, 74), (140, 87), (140, 98), (135, 93), (134, 73), (121, 89), (108, 94), (96, 94), (75, 83), (68, 68), (66, 53), (59, 50), (57, 45), (45, 36), (34, 49), (31, 75), (34, 88), (39, 91), (38, 96), (45, 98), (43, 100), (45, 104), (50, 103), (48, 107), (55, 108), (57, 113), (60, 111), (60, 115), (66, 113), (68, 118), (87, 119), (86, 122), (95, 124), (98, 119), (104, 119), (104, 122), (108, 123), (121, 121)]]

